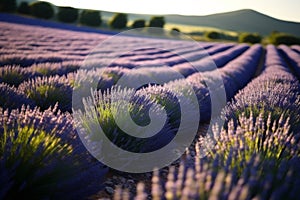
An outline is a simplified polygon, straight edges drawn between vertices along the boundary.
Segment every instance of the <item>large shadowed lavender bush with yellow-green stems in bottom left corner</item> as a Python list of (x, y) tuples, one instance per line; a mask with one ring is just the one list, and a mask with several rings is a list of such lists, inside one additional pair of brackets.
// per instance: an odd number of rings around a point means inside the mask
[(106, 170), (82, 147), (71, 116), (55, 109), (0, 108), (1, 198), (85, 197), (101, 188)]

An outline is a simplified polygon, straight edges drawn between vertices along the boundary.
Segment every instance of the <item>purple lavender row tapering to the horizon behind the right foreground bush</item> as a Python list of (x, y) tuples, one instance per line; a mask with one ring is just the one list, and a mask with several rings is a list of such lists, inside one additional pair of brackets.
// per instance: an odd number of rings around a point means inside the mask
[[(300, 85), (295, 76), (280, 58), (274, 46), (267, 47), (265, 58), (266, 68), (260, 76), (252, 80), (247, 87), (241, 90), (234, 101), (225, 109), (229, 119), (237, 120), (240, 113), (250, 112), (255, 117), (261, 110), (271, 112), (272, 120), (289, 117), (292, 130), (298, 131), (300, 125)], [(266, 116), (264, 116), (266, 119)]]

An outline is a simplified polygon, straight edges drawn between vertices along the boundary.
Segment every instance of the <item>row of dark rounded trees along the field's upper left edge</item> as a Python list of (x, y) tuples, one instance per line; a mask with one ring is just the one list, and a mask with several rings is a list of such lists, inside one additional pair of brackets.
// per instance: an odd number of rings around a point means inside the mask
[[(98, 10), (79, 10), (73, 7), (58, 7), (55, 13), (54, 6), (45, 1), (36, 1), (33, 3), (21, 2), (16, 4), (15, 0), (0, 0), (0, 11), (15, 12), (20, 14), (32, 15), (42, 19), (56, 18), (64, 23), (79, 22), (82, 25), (98, 27), (103, 24), (101, 12)], [(113, 29), (124, 29), (128, 25), (128, 15), (125, 13), (115, 13), (108, 21), (108, 25)], [(129, 28), (159, 27), (163, 28), (165, 19), (163, 16), (153, 16), (147, 23), (144, 19), (133, 21)]]

